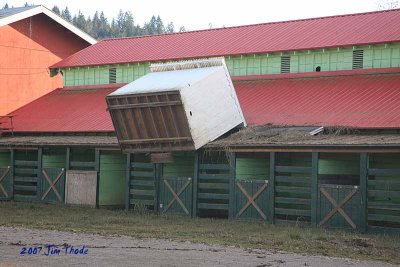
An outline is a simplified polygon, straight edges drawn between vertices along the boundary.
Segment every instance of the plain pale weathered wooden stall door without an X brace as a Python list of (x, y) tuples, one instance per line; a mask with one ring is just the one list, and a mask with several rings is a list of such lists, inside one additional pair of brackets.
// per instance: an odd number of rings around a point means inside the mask
[(65, 203), (96, 206), (97, 172), (72, 171), (66, 173)]

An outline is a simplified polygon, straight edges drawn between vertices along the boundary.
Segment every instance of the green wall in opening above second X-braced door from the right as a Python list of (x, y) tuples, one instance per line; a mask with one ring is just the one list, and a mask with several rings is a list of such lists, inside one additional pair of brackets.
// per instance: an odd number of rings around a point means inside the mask
[(269, 180), (269, 153), (237, 153), (236, 179)]

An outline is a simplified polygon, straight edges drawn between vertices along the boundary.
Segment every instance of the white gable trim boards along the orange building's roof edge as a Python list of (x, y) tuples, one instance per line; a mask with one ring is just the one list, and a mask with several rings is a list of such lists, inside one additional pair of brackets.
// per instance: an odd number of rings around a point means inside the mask
[(63, 27), (70, 30), (74, 34), (78, 35), (80, 38), (82, 38), (83, 40), (85, 40), (86, 42), (88, 42), (90, 44), (97, 43), (97, 40), (94, 39), (93, 37), (91, 37), (89, 34), (85, 33), (84, 31), (80, 30), (79, 28), (75, 27), (74, 25), (72, 25), (71, 23), (64, 20), (63, 18), (61, 18), (60, 16), (55, 14), (53, 11), (51, 11), (50, 9), (48, 9), (47, 7), (42, 6), (42, 5), (31, 8), (26, 11), (22, 11), (20, 13), (14, 14), (14, 15), (10, 15), (5, 18), (1, 18), (0, 19), (0, 27), (11, 24), (16, 21), (20, 21), (20, 20), (35, 16), (35, 15), (38, 15), (38, 14), (45, 14), (46, 16), (50, 17), (51, 19), (53, 19), (57, 23), (61, 24)]

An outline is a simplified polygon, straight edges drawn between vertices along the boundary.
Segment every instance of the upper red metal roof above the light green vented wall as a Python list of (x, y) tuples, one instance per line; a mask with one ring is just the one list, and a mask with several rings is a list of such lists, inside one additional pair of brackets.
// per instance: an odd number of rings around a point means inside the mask
[(54, 68), (258, 54), (400, 41), (400, 9), (108, 39)]

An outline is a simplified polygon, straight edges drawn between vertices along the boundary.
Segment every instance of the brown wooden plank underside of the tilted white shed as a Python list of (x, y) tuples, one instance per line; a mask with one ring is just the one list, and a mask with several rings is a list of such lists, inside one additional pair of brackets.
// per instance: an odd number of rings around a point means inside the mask
[(178, 91), (107, 97), (121, 149), (194, 150)]

